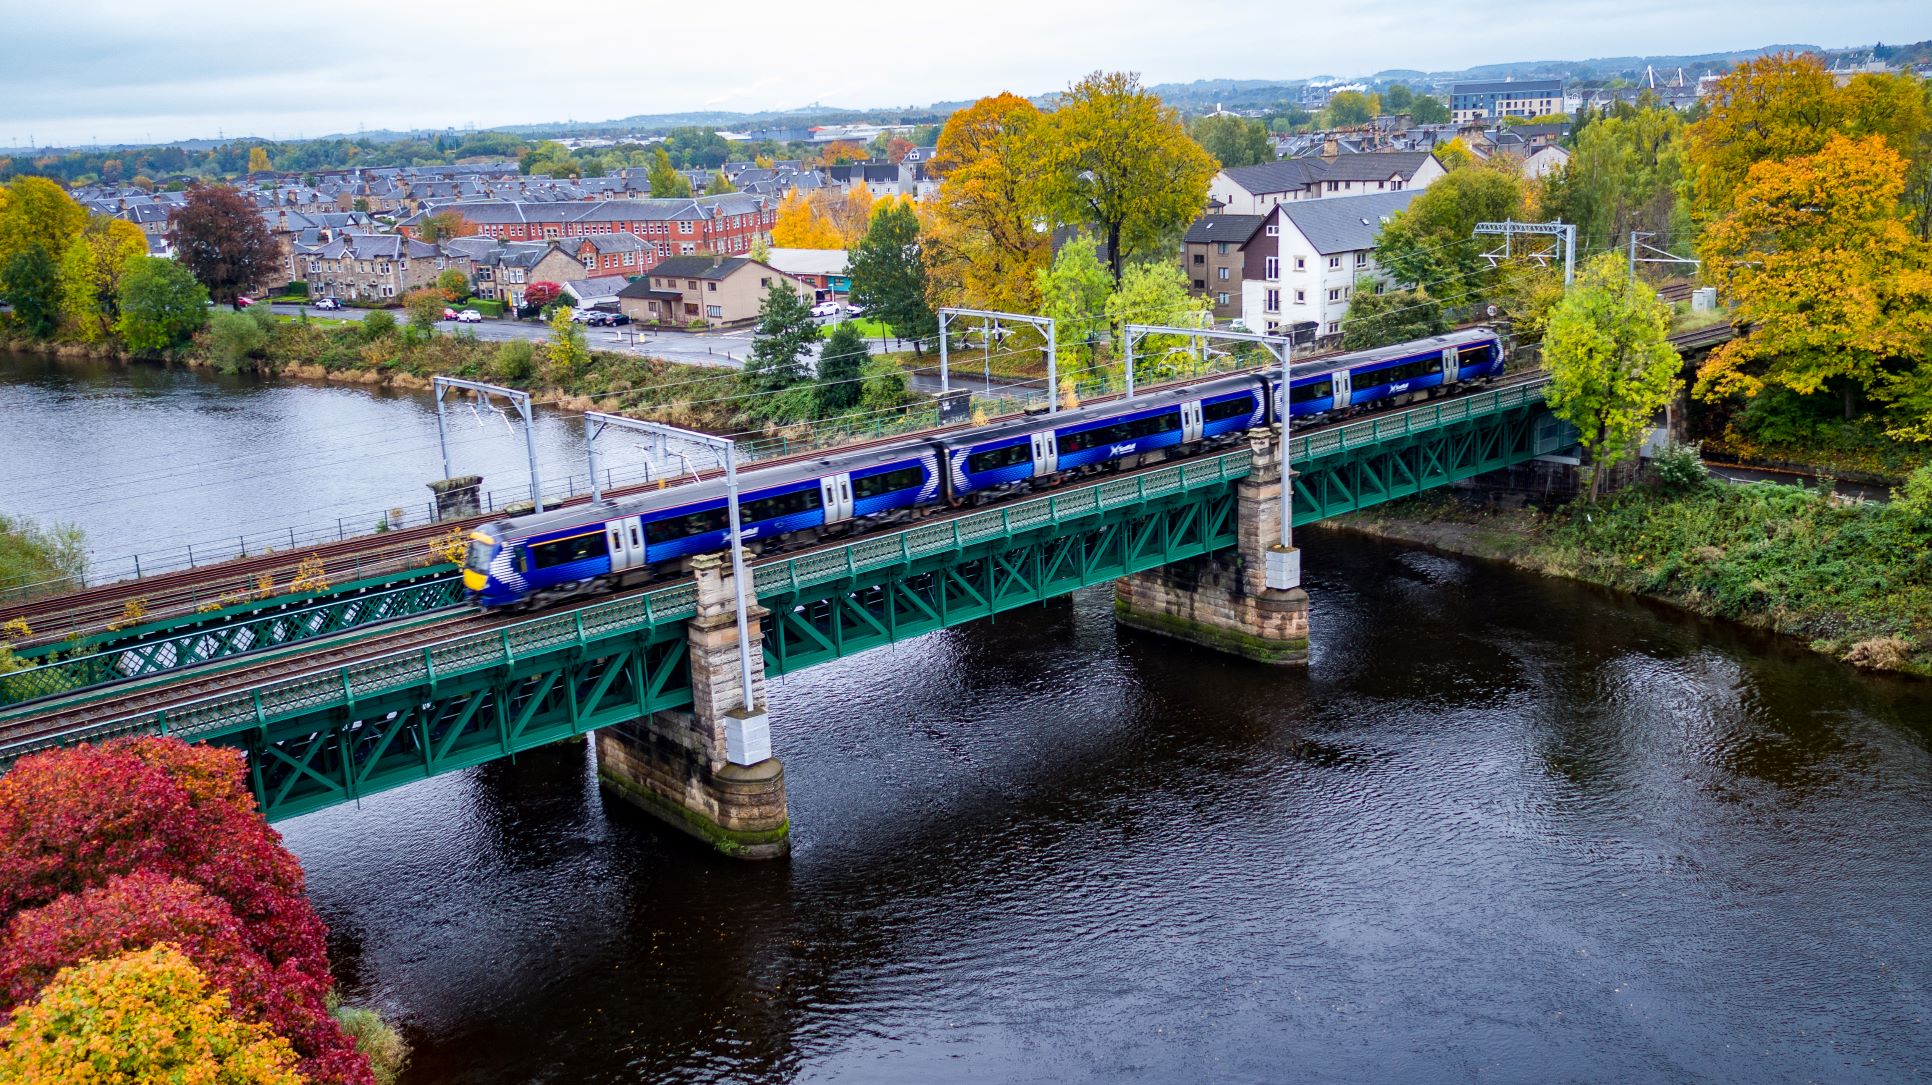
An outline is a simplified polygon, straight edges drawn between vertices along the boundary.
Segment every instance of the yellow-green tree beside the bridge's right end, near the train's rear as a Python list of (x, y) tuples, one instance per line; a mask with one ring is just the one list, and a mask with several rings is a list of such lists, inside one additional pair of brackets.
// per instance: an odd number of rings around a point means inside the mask
[(1549, 319), (1544, 336), (1549, 411), (1582, 434), (1590, 500), (1604, 471), (1631, 456), (1644, 427), (1681, 386), (1683, 359), (1669, 332), (1669, 305), (1633, 280), (1617, 253), (1590, 259)]

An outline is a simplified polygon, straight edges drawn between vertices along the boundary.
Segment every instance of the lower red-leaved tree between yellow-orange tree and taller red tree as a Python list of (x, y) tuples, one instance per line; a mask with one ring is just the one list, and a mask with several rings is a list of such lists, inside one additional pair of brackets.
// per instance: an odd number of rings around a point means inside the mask
[(369, 1060), (328, 1015), (327, 987), (292, 961), (270, 965), (249, 946), (228, 904), (195, 882), (153, 871), (108, 878), (100, 888), (14, 915), (0, 942), (0, 996), (19, 1006), (64, 967), (162, 942), (226, 990), (238, 1015), (288, 1039), (301, 1056), (303, 1079), (373, 1085)]

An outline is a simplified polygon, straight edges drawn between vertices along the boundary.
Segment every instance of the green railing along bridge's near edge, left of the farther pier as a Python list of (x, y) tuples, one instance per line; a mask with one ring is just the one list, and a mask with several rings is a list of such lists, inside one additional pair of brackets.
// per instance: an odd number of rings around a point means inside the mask
[[(927, 523), (893, 535), (862, 539), (833, 550), (761, 562), (752, 570), (752, 579), (761, 595), (781, 595), (804, 585), (902, 566), (916, 558), (1010, 539), (1169, 494), (1227, 485), (1246, 477), (1250, 463), (1252, 454), (1248, 450), (1227, 452), (1209, 459), (1144, 471), (1130, 479), (1113, 479), (1066, 494), (1034, 498), (943, 523)], [(259, 689), (218, 693), (172, 709), (89, 724), (66, 734), (4, 743), (0, 745), (0, 766), (12, 765), (12, 761), (29, 753), (75, 741), (100, 741), (129, 734), (174, 734), (195, 741), (238, 728), (267, 726), (270, 720), (303, 716), (323, 709), (354, 709), (357, 699), (412, 685), (433, 687), (437, 680), (489, 668), (506, 668), (529, 656), (572, 647), (582, 649), (609, 637), (634, 635), (639, 629), (684, 622), (696, 616), (696, 585), (661, 587), (624, 598), (593, 602), (562, 614), (518, 622), (516, 626), (487, 633), (450, 637), (332, 670), (270, 682)]]

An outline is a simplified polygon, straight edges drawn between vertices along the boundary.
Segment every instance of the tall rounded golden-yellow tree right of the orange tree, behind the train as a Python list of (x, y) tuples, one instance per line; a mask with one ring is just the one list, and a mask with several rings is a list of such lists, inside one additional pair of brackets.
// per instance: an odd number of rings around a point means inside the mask
[(1095, 228), (1115, 282), (1130, 259), (1165, 257), (1208, 203), (1213, 158), (1140, 75), (1095, 71), (1068, 87), (1047, 122), (1043, 203), (1063, 222)]

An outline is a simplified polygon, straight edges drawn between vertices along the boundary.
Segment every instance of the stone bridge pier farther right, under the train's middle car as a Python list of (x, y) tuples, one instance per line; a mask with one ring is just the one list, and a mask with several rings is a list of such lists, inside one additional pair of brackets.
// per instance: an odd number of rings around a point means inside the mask
[(1308, 593), (1300, 552), (1281, 546), (1281, 442), (1250, 436), (1254, 467), (1236, 483), (1229, 550), (1121, 577), (1115, 618), (1130, 627), (1279, 666), (1308, 664)]

